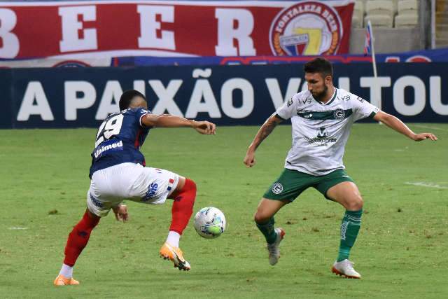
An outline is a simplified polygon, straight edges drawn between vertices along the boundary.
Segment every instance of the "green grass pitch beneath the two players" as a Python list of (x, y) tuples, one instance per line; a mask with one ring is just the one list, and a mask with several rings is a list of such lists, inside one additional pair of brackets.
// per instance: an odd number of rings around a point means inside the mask
[(286, 230), (272, 267), (253, 212), (283, 167), (290, 126), (242, 164), (258, 127), (218, 127), (216, 136), (156, 129), (143, 146), (148, 165), (197, 182), (195, 211), (214, 206), (228, 220), (218, 239), (190, 221), (179, 272), (158, 256), (172, 203), (127, 202), (130, 221), (100, 221), (78, 259), (80, 286), (52, 286), (66, 237), (83, 215), (96, 130), (0, 130), (0, 298), (447, 298), (448, 125), (410, 125), (439, 141), (410, 141), (384, 125), (354, 125), (347, 172), (365, 200), (351, 260), (363, 279), (330, 272), (344, 209), (307, 190), (276, 216)]

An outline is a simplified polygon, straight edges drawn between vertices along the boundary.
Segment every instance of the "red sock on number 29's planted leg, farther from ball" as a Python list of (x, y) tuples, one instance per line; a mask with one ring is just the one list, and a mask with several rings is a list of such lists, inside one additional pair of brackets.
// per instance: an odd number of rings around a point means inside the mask
[(80, 255), (81, 251), (83, 251), (84, 247), (89, 242), (90, 232), (92, 232), (93, 228), (97, 226), (99, 222), (99, 217), (90, 218), (87, 211), (81, 221), (75, 225), (73, 230), (71, 230), (69, 234), (69, 239), (67, 239), (67, 244), (65, 246), (65, 258), (64, 264), (73, 267), (76, 263), (76, 259)]

